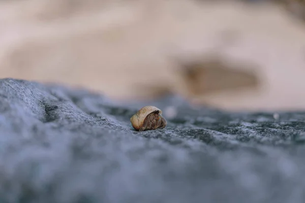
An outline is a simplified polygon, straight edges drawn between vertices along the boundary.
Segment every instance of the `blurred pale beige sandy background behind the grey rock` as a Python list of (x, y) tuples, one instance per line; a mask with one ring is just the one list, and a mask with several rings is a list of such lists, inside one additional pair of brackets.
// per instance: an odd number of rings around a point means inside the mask
[(0, 1), (0, 78), (113, 99), (174, 93), (227, 110), (305, 110), (303, 4)]

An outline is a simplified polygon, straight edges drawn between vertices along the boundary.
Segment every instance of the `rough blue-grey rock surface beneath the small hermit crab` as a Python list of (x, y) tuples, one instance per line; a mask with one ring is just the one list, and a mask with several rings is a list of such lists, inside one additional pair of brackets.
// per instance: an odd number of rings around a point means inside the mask
[[(168, 126), (134, 131), (144, 105)], [(3, 79), (0, 202), (304, 202), (304, 119)]]

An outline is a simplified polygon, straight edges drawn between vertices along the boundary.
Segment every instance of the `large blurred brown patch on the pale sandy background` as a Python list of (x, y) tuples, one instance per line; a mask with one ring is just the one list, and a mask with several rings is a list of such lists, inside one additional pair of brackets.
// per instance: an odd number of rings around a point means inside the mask
[(232, 64), (220, 57), (211, 57), (201, 61), (192, 61), (182, 64), (181, 74), (189, 92), (193, 95), (224, 91), (239, 88), (256, 88), (259, 85), (258, 76), (252, 69), (244, 69), (241, 64), (233, 67)]

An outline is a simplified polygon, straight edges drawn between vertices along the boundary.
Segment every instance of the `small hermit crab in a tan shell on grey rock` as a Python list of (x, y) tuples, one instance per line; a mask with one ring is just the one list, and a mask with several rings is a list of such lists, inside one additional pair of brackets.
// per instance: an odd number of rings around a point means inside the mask
[(162, 111), (154, 106), (143, 107), (130, 118), (130, 122), (137, 131), (164, 128), (167, 124)]

